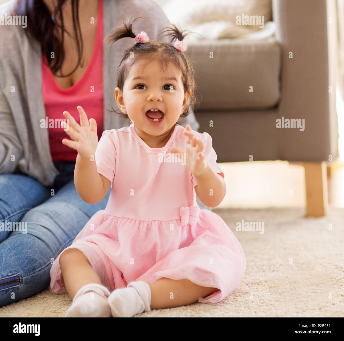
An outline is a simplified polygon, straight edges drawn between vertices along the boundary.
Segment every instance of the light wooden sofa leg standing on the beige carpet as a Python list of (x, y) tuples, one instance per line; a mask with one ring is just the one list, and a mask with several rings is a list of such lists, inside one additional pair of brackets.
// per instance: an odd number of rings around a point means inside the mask
[(326, 162), (303, 162), (306, 180), (306, 217), (323, 217), (327, 214)]

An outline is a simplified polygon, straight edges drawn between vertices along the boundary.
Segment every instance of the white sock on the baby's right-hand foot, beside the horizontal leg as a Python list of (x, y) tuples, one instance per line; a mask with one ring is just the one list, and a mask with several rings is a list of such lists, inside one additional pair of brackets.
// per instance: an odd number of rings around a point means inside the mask
[(126, 288), (115, 289), (108, 302), (112, 317), (132, 317), (151, 311), (151, 290), (146, 282), (130, 282)]

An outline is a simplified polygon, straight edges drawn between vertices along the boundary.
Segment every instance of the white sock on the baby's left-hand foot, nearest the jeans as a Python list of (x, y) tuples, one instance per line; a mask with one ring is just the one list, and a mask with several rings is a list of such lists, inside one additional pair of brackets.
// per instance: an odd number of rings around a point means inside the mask
[(65, 317), (111, 317), (109, 296), (109, 290), (103, 285), (86, 284), (75, 294)]

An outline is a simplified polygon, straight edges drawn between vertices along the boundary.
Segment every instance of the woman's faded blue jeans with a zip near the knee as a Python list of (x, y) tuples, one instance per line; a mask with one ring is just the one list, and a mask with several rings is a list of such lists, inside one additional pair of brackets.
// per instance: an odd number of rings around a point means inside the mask
[(108, 202), (111, 187), (89, 204), (75, 189), (75, 163), (54, 164), (51, 188), (20, 172), (0, 174), (0, 307), (44, 290), (53, 261)]

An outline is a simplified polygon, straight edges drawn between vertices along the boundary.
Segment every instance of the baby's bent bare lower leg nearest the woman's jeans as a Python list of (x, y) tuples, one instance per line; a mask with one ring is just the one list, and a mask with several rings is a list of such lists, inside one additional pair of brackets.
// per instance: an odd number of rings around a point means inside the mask
[(101, 284), (98, 274), (88, 262), (87, 257), (76, 248), (67, 249), (61, 254), (60, 268), (63, 276), (62, 281), (64, 281), (71, 299), (84, 285), (89, 283)]

